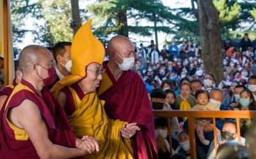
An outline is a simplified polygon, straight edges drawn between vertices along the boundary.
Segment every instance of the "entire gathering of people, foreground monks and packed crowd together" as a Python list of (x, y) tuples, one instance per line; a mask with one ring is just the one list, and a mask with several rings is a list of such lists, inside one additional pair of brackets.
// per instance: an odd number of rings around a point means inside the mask
[[(117, 35), (104, 48), (91, 22), (72, 43), (17, 52), (16, 78), (0, 91), (0, 158), (190, 158), (187, 117), (171, 117), (168, 134), (168, 119), (152, 110), (256, 110), (256, 42), (248, 34), (224, 42), (217, 85), (200, 45), (172, 40), (159, 51), (153, 40), (139, 48)], [(245, 148), (252, 120), (240, 119), (237, 130), (234, 119), (195, 119), (197, 158), (215, 157), (214, 126), (218, 146), (237, 143), (240, 131)]]

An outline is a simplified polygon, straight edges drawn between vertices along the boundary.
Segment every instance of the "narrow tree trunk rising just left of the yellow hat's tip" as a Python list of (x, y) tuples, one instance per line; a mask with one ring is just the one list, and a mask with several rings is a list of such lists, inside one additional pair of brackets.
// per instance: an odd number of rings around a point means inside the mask
[(70, 0), (71, 10), (72, 10), (72, 22), (70, 22), (70, 27), (73, 29), (73, 34), (75, 35), (78, 29), (82, 26), (80, 12), (79, 12), (79, 0)]

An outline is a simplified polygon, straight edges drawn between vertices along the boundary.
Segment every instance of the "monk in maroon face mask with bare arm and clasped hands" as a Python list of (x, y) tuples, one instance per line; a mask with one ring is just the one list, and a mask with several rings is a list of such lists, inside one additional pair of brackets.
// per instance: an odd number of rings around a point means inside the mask
[(75, 158), (99, 151), (97, 140), (76, 139), (60, 103), (46, 87), (56, 79), (49, 50), (20, 53), (22, 80), (0, 113), (0, 158)]

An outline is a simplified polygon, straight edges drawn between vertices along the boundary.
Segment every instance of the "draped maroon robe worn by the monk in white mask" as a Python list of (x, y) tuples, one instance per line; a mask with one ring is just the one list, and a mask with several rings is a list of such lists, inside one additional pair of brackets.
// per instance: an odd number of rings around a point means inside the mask
[(137, 123), (141, 130), (132, 137), (134, 158), (156, 159), (152, 105), (143, 80), (136, 72), (128, 70), (115, 81), (107, 64), (103, 66), (113, 82), (113, 86), (99, 95), (100, 100), (106, 101), (106, 114), (109, 119)]

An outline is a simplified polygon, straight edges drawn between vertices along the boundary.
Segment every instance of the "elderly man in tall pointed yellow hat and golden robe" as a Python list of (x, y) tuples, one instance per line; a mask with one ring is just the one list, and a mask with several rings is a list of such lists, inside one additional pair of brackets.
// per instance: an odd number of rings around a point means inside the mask
[(81, 138), (85, 134), (98, 140), (100, 151), (86, 158), (133, 158), (129, 138), (140, 128), (136, 123), (108, 119), (104, 101), (95, 93), (105, 72), (105, 50), (93, 36), (91, 23), (92, 20), (86, 22), (74, 36), (72, 75), (60, 80), (51, 91), (63, 106), (74, 135)]

